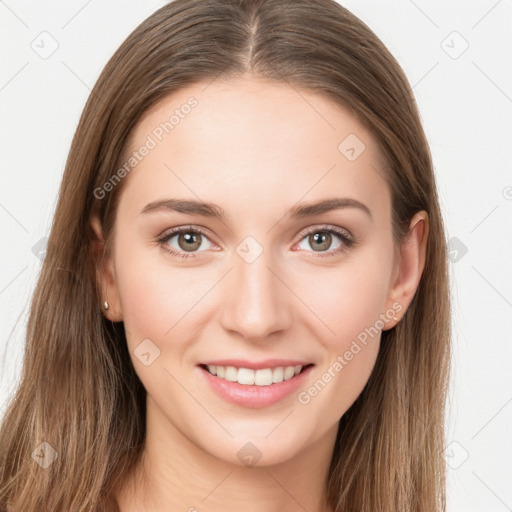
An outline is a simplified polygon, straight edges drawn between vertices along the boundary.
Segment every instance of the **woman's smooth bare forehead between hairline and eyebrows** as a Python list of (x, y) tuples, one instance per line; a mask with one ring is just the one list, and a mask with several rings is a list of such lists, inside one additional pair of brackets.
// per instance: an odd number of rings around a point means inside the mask
[(140, 208), (179, 196), (261, 214), (350, 196), (389, 211), (374, 137), (347, 109), (287, 83), (243, 77), (180, 89), (141, 118), (126, 160), (143, 146), (121, 199)]

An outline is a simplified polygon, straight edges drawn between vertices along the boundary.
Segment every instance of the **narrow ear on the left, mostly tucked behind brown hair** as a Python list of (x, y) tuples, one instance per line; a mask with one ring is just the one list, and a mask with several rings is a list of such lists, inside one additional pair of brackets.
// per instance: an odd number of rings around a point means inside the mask
[[(98, 288), (101, 290), (99, 306), (105, 318), (112, 322), (120, 322), (123, 320), (123, 314), (112, 257), (107, 254), (103, 229), (98, 216), (92, 216), (90, 222), (95, 235), (93, 246), (95, 250), (96, 280), (99, 285)], [(103, 307), (105, 301), (108, 301), (108, 309)]]

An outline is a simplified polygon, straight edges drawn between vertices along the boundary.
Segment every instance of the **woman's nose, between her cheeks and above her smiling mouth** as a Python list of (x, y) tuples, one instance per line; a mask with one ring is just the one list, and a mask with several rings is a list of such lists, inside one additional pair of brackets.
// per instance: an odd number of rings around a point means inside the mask
[(250, 341), (285, 331), (292, 321), (293, 294), (283, 282), (270, 251), (249, 263), (233, 255), (234, 268), (224, 279), (221, 322), (224, 329)]

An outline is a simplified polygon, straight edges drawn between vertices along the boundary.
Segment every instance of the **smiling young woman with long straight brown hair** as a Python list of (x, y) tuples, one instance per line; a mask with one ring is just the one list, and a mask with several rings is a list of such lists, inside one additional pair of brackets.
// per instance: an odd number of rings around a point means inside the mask
[(383, 44), (332, 0), (175, 0), (80, 119), (0, 510), (444, 510), (449, 324)]

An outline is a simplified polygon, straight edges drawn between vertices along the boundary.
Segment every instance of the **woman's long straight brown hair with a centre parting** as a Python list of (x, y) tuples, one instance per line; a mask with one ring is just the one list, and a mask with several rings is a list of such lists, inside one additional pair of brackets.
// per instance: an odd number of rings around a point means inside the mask
[(445, 510), (445, 232), (402, 69), (334, 0), (175, 0), (109, 60), (73, 138), (31, 303), (20, 384), (0, 429), (0, 511), (116, 509), (113, 491), (143, 448), (146, 395), (123, 324), (100, 310), (90, 228), (97, 213), (111, 240), (126, 180), (103, 199), (94, 191), (122, 165), (134, 126), (159, 100), (247, 72), (323, 94), (373, 133), (385, 157), (397, 245), (414, 213), (428, 213), (419, 287), (402, 320), (382, 333), (373, 373), (341, 418), (326, 495), (337, 512)]

